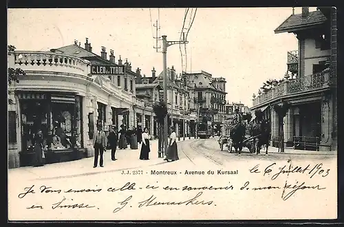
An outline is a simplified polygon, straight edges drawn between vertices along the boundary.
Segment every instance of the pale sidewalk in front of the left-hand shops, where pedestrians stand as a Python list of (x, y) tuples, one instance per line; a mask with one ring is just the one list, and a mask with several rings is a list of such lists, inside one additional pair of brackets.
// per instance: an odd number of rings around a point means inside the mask
[[(191, 138), (193, 139), (193, 138)], [(185, 138), (189, 140), (189, 138)], [(184, 141), (181, 138), (180, 141)], [(53, 164), (46, 164), (45, 166), (33, 167), (25, 166), (8, 170), (8, 177), (11, 179), (49, 179), (49, 178), (63, 178), (76, 177), (82, 175), (93, 175), (96, 173), (106, 173), (114, 171), (122, 171), (127, 169), (136, 169), (146, 166), (155, 166), (157, 164), (166, 163), (163, 158), (158, 158), (158, 140), (151, 140), (151, 153), (149, 153), (149, 160), (140, 160), (141, 144), (138, 144), (138, 149), (117, 149), (116, 161), (111, 160), (111, 150), (104, 153), (104, 167), (93, 168), (94, 157), (83, 158), (71, 162), (58, 162)], [(99, 160), (98, 160), (99, 162)], [(25, 175), (25, 177), (23, 177)]]

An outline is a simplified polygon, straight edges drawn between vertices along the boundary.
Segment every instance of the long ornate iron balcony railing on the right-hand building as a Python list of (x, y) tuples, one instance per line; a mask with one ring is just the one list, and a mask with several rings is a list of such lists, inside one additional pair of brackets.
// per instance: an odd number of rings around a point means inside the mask
[(323, 72), (304, 76), (295, 79), (283, 80), (279, 85), (266, 91), (259, 96), (253, 96), (253, 107), (268, 103), (277, 98), (292, 96), (295, 94), (307, 93), (307, 91), (316, 91), (324, 88), (329, 88), (330, 84), (330, 70), (325, 69)]

